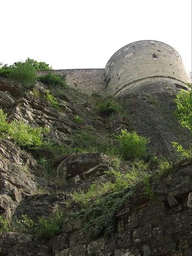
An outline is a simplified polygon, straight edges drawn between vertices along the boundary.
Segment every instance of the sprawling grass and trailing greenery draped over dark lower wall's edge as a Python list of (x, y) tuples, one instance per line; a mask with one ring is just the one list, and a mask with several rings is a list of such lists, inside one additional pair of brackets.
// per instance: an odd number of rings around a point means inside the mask
[(132, 169), (121, 173), (111, 173), (113, 182), (97, 182), (87, 190), (71, 194), (66, 206), (71, 208), (71, 217), (84, 221), (84, 230), (91, 236), (101, 233), (111, 234), (115, 230), (115, 215), (124, 207), (127, 199), (132, 200), (134, 189), (143, 184), (144, 193), (152, 199), (151, 172), (143, 161), (135, 162)]

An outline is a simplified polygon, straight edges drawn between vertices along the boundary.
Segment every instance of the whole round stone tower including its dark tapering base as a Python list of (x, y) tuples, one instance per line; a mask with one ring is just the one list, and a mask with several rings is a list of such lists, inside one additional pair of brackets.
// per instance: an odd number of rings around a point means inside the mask
[(159, 41), (138, 41), (116, 51), (105, 67), (106, 92), (119, 98), (130, 127), (150, 138), (156, 155), (177, 158), (172, 142), (187, 147), (188, 131), (175, 115), (174, 98), (189, 77), (179, 53)]

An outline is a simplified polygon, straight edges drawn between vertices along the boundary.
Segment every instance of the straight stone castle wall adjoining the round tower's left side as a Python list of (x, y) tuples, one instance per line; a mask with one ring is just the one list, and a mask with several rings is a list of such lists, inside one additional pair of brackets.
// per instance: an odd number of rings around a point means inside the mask
[[(38, 71), (39, 75), (48, 71)], [(104, 68), (51, 70), (54, 74), (66, 75), (68, 85), (87, 94), (106, 94)]]

